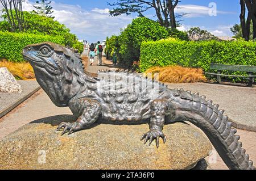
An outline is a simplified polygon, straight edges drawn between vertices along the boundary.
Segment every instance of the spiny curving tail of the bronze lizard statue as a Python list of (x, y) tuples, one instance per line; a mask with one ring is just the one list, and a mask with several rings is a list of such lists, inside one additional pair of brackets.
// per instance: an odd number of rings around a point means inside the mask
[(205, 96), (198, 93), (174, 91), (174, 99), (179, 99), (175, 104), (177, 121), (190, 121), (202, 129), (229, 169), (255, 170), (253, 161), (249, 160), (242, 143), (238, 142), (237, 130), (232, 128), (229, 117), (224, 116), (224, 110), (218, 110), (217, 104), (213, 105), (212, 100), (206, 101)]

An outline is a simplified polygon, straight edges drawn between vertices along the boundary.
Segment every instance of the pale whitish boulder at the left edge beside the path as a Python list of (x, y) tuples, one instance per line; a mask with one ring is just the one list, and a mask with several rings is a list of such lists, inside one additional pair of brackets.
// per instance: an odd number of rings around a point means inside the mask
[(7, 93), (22, 92), (22, 87), (7, 68), (0, 68), (0, 91)]

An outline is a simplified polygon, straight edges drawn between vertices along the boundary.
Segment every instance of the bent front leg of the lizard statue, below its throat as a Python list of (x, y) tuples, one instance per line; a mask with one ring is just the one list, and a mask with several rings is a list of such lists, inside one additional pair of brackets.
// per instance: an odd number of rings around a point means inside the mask
[(65, 134), (67, 131), (69, 132), (68, 134), (71, 134), (72, 132), (89, 127), (97, 121), (98, 116), (100, 116), (101, 113), (101, 104), (97, 100), (87, 98), (72, 100), (69, 107), (75, 115), (79, 116), (79, 118), (75, 123), (60, 123), (57, 131), (64, 128), (61, 135)]

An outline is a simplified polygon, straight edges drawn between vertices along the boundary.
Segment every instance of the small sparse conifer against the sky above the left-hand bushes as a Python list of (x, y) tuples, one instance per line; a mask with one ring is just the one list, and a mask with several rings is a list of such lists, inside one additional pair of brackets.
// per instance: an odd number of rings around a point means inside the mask
[(35, 14), (39, 14), (39, 15), (43, 15), (43, 16), (47, 16), (49, 18), (55, 18), (54, 16), (51, 16), (51, 14), (53, 13), (52, 10), (52, 6), (49, 5), (51, 4), (51, 1), (47, 2), (48, 0), (40, 0), (36, 1), (36, 3), (38, 4), (37, 6), (34, 6), (36, 10), (33, 10), (33, 12), (35, 12)]

